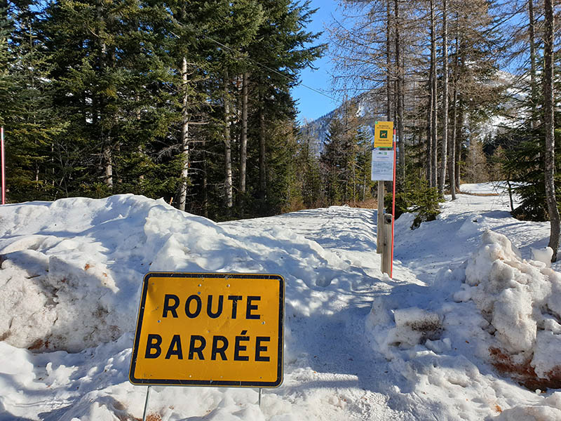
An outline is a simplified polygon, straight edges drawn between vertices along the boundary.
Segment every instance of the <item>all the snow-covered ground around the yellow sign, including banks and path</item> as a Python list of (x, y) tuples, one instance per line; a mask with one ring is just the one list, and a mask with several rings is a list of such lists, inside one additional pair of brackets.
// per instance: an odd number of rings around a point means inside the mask
[(561, 420), (561, 266), (548, 223), (508, 209), (459, 194), (418, 229), (403, 215), (390, 279), (369, 209), (216, 224), (132, 195), (1, 206), (0, 421), (142, 419), (128, 369), (149, 271), (286, 281), (283, 385), (261, 407), (256, 389), (152, 387), (151, 421)]

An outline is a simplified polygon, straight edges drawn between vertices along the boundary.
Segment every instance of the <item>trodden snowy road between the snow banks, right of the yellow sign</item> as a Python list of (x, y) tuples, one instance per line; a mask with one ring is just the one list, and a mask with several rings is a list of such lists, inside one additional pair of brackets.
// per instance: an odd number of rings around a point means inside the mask
[(282, 396), (299, 406), (297, 411), (307, 407), (299, 420), (413, 420), (406, 412), (388, 407), (386, 391), (399, 380), (390, 378), (384, 357), (372, 358), (372, 346), (364, 335), (372, 297), (388, 293), (394, 284), (385, 276), (380, 279), (376, 212), (334, 206), (221, 226), (251, 230), (264, 224), (318, 243), (340, 258), (347, 272), (320, 279), (307, 302), (290, 300), (292, 294), (287, 293), (292, 316), (288, 311), (291, 347), (285, 359), (285, 382), (264, 396)]

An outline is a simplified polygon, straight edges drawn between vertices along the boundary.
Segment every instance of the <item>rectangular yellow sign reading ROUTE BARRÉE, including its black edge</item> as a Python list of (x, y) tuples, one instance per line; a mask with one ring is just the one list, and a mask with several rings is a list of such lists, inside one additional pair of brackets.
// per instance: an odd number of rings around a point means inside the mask
[(150, 272), (130, 382), (277, 387), (283, 381), (284, 295), (279, 275)]

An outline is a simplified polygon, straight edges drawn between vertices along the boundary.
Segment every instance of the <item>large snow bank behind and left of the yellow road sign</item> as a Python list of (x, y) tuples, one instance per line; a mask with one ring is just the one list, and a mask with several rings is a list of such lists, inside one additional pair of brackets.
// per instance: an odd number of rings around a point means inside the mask
[[(221, 227), (143, 196), (8, 205), (0, 218), (0, 340), (15, 347), (79, 352), (133, 331), (149, 271), (282, 273), (302, 290), (363, 279), (290, 229)], [(301, 295), (287, 302), (309, 314)]]

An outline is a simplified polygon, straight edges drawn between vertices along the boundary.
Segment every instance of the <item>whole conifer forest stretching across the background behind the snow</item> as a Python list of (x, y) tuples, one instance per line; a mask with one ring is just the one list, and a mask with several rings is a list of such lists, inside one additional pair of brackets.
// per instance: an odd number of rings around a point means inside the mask
[[(309, 1), (0, 1), (8, 203), (133, 193), (214, 220), (364, 204), (373, 123), (393, 121), (398, 212), (505, 180), (513, 213), (558, 233), (560, 0), (337, 11), (322, 43)], [(298, 121), (290, 90), (325, 55), (342, 105)]]

